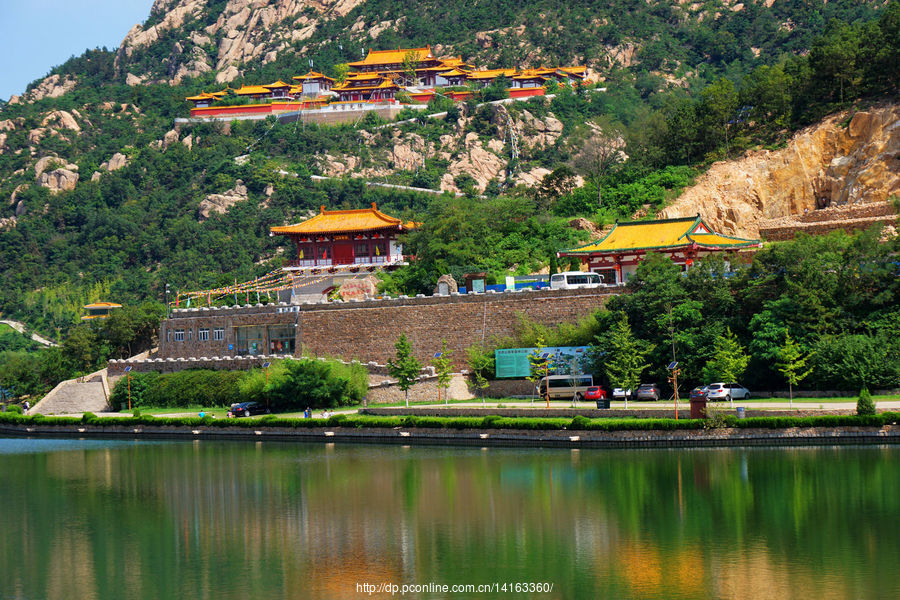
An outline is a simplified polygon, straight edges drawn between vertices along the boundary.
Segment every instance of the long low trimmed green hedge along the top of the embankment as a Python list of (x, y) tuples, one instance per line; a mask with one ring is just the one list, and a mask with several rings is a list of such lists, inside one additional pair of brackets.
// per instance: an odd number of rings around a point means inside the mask
[[(878, 415), (827, 415), (820, 417), (753, 417), (736, 419), (728, 415), (724, 418), (725, 427), (739, 429), (789, 429), (796, 427), (881, 427), (896, 424), (900, 413), (884, 412)], [(135, 426), (148, 425), (155, 427), (285, 427), (304, 429), (311, 427), (356, 427), (356, 428), (425, 428), (425, 429), (518, 429), (518, 430), (582, 430), (582, 431), (668, 431), (685, 429), (703, 429), (709, 427), (704, 419), (588, 419), (577, 416), (574, 419), (553, 418), (540, 419), (528, 417), (416, 417), (396, 416), (379, 417), (367, 415), (334, 415), (328, 419), (281, 419), (276, 415), (267, 415), (262, 419), (214, 419), (212, 416), (200, 417), (154, 417), (141, 415), (137, 417), (98, 417), (93, 413), (85, 413), (77, 417), (45, 417), (43, 415), (20, 415), (13, 412), (0, 413), (0, 423), (10, 424), (46, 424), (46, 425), (78, 425), (95, 426)]]

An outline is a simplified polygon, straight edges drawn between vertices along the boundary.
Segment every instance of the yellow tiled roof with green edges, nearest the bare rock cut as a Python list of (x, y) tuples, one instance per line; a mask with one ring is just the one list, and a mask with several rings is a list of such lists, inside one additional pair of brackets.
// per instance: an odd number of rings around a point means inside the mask
[[(696, 233), (695, 233), (696, 232)], [(659, 221), (616, 223), (612, 231), (597, 242), (563, 250), (562, 254), (595, 254), (627, 250), (655, 250), (698, 244), (707, 247), (744, 247), (759, 240), (730, 237), (712, 231), (699, 216)]]

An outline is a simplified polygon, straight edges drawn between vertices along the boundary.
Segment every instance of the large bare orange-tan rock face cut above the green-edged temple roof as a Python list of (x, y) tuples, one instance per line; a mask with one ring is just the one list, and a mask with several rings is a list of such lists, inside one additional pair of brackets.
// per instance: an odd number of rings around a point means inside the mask
[(900, 106), (858, 112), (841, 127), (847, 116), (800, 131), (783, 150), (716, 163), (659, 216), (699, 212), (723, 233), (756, 237), (761, 219), (900, 194)]

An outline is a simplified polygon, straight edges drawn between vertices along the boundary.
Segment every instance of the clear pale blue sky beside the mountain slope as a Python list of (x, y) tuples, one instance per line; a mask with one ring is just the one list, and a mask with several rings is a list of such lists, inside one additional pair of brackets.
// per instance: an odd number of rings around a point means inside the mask
[(119, 47), (153, 0), (0, 0), (0, 98), (88, 48)]

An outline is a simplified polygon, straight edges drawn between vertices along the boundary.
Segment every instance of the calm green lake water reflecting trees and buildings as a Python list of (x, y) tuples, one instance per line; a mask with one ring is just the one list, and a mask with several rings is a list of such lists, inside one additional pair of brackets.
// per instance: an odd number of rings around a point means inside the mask
[(0, 438), (0, 507), (0, 598), (900, 597), (897, 447)]

